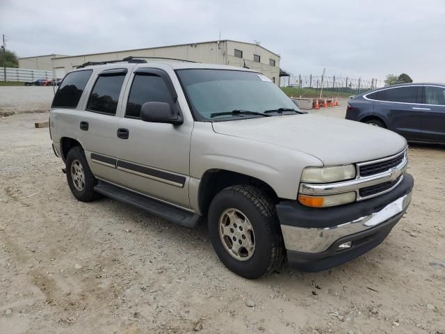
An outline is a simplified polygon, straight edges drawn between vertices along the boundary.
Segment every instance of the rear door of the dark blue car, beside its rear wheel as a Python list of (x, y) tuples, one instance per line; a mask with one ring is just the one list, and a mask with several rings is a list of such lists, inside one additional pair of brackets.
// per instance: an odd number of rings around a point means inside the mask
[(421, 138), (422, 86), (401, 86), (380, 90), (374, 110), (386, 116), (387, 128), (407, 140)]

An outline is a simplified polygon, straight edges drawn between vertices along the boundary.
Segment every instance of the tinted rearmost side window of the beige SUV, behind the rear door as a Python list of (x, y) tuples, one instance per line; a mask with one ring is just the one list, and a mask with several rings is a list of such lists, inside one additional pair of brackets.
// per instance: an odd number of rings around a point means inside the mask
[(76, 108), (92, 70), (67, 74), (54, 96), (52, 108)]

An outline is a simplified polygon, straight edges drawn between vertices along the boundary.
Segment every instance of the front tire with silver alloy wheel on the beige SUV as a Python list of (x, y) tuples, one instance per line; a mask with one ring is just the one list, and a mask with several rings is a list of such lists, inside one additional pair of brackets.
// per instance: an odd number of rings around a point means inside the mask
[(273, 201), (254, 186), (230, 186), (213, 198), (209, 234), (225, 266), (244, 278), (275, 271), (284, 256), (283, 239)]

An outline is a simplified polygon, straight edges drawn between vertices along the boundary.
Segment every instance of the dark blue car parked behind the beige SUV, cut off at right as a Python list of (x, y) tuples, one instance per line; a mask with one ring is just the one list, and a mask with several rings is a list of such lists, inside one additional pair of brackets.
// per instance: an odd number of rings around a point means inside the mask
[(348, 101), (347, 120), (385, 127), (407, 141), (445, 143), (445, 85), (401, 84)]

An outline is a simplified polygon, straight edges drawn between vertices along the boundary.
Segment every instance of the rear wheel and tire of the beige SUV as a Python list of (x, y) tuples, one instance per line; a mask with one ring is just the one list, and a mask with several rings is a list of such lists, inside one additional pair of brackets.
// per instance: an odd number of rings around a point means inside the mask
[(100, 198), (94, 191), (97, 179), (86, 161), (85, 152), (80, 146), (70, 150), (66, 159), (67, 182), (75, 198), (82, 202), (90, 202)]

